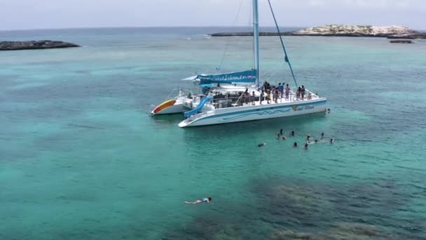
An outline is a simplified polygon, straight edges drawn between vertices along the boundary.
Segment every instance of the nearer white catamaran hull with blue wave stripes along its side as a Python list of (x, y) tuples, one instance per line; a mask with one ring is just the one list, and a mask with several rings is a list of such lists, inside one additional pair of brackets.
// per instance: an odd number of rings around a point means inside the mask
[(314, 100), (310, 102), (292, 102), (283, 105), (256, 105), (252, 107), (231, 107), (217, 109), (212, 112), (197, 114), (191, 119), (181, 121), (179, 127), (205, 126), (214, 124), (227, 124), (238, 121), (253, 121), (261, 119), (273, 119), (285, 116), (297, 116), (325, 112), (327, 100)]

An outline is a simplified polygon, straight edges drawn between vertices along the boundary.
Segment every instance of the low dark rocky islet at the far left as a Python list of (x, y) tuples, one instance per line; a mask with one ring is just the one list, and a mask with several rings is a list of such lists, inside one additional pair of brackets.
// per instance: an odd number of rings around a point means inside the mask
[(77, 44), (70, 44), (64, 41), (0, 41), (0, 51), (76, 47), (80, 46), (78, 46)]

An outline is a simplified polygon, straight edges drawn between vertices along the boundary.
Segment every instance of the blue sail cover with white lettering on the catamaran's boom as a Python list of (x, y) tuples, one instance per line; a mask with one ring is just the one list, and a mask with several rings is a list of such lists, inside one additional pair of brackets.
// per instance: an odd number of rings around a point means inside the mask
[(226, 74), (198, 75), (197, 79), (200, 79), (200, 84), (254, 83), (256, 81), (256, 69)]

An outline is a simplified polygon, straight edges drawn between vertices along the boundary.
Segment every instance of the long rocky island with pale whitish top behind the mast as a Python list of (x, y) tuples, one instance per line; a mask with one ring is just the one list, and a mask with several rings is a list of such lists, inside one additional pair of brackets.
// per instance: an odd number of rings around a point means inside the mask
[[(221, 32), (211, 36), (253, 36), (253, 32)], [(282, 32), (282, 36), (369, 36), (387, 37), (389, 39), (426, 39), (426, 33), (418, 32), (408, 27), (370, 26), (370, 25), (324, 25), (310, 27), (293, 32)], [(278, 36), (277, 32), (260, 32), (259, 36)]]

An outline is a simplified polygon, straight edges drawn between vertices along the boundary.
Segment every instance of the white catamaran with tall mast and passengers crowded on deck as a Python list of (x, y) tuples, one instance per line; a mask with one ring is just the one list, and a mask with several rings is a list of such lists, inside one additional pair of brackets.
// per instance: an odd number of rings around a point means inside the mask
[(179, 127), (226, 124), (237, 121), (272, 119), (325, 112), (327, 99), (297, 85), (280, 29), (275, 20), (273, 8), (268, 0), (280, 42), (284, 60), (289, 65), (296, 84), (296, 93), (286, 86), (273, 88), (259, 81), (259, 23), (258, 0), (253, 0), (253, 69), (227, 74), (200, 74), (186, 80), (193, 80), (202, 90), (200, 94), (179, 94), (153, 107), (151, 114), (184, 113), (185, 119)]

